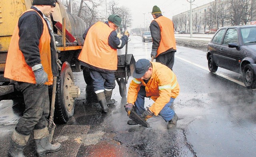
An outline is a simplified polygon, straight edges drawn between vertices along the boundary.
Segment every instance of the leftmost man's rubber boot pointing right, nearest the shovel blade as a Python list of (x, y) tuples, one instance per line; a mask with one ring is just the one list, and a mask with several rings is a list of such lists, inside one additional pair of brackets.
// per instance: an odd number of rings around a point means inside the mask
[(48, 127), (43, 129), (34, 129), (34, 141), (36, 143), (36, 154), (38, 157), (45, 156), (45, 153), (58, 151), (61, 148), (60, 143), (51, 144), (49, 142)]

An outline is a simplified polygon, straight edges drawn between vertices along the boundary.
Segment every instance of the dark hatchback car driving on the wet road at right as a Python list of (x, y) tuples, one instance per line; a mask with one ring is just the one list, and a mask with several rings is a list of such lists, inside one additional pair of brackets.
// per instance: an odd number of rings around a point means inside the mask
[(206, 52), (210, 72), (218, 67), (242, 74), (246, 87), (256, 88), (256, 25), (220, 28)]

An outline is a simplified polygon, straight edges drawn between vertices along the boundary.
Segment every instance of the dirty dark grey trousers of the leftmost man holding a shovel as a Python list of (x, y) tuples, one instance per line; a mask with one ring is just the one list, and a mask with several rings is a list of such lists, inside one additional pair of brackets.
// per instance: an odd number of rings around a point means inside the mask
[(22, 91), (26, 109), (15, 129), (22, 135), (29, 135), (33, 129), (42, 129), (48, 125), (46, 118), (50, 112), (48, 85), (36, 87), (36, 84), (15, 82), (15, 88)]

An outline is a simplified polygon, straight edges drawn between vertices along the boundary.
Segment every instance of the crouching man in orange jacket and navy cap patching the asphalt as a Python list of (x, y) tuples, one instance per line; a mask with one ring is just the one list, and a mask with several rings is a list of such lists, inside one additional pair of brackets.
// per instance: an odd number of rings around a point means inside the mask
[[(176, 127), (178, 116), (171, 106), (179, 95), (180, 86), (172, 70), (163, 64), (140, 59), (135, 64), (132, 76), (134, 79), (130, 83), (127, 103), (124, 106), (128, 115), (132, 109), (145, 119), (160, 115), (168, 122), (168, 129)], [(150, 97), (155, 101), (147, 109), (144, 108), (145, 97)], [(138, 124), (133, 120), (127, 123)]]

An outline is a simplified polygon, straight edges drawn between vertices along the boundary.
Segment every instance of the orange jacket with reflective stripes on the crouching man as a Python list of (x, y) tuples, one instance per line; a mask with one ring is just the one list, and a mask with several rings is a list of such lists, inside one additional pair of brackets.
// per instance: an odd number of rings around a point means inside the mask
[(161, 63), (152, 63), (152, 76), (146, 84), (143, 79), (134, 78), (128, 89), (127, 102), (134, 104), (140, 86), (145, 86), (146, 97), (150, 97), (155, 102), (149, 108), (155, 115), (163, 109), (163, 107), (170, 101), (170, 98), (176, 98), (180, 92), (176, 75)]

